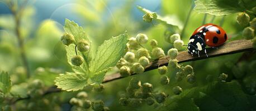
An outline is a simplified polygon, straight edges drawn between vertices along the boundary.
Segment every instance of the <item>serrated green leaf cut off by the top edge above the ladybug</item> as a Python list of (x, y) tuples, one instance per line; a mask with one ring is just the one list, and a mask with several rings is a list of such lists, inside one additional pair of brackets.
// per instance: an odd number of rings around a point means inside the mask
[(225, 16), (245, 11), (241, 0), (197, 0), (194, 8), (198, 13)]

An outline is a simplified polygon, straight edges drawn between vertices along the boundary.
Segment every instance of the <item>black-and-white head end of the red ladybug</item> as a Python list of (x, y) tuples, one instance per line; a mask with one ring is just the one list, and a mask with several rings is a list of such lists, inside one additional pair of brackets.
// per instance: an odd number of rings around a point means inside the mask
[(206, 43), (199, 34), (195, 34), (190, 37), (188, 41), (188, 53), (189, 54), (198, 54), (200, 51), (205, 49)]

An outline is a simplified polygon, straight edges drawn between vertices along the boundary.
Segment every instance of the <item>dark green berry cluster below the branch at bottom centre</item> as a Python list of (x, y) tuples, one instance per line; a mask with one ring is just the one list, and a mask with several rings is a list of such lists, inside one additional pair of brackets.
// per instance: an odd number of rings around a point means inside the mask
[(167, 95), (164, 92), (153, 92), (153, 85), (150, 83), (141, 84), (140, 80), (132, 78), (125, 95), (119, 99), (123, 106), (139, 107), (141, 104), (153, 105), (163, 103)]

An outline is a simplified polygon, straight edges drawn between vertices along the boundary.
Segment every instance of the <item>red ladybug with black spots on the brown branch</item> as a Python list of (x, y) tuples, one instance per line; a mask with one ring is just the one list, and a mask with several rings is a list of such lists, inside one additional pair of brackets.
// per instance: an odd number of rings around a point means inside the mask
[(198, 54), (200, 51), (204, 51), (206, 56), (206, 46), (217, 47), (224, 44), (227, 40), (227, 34), (220, 26), (216, 24), (208, 23), (201, 27), (198, 27), (188, 41), (188, 53)]

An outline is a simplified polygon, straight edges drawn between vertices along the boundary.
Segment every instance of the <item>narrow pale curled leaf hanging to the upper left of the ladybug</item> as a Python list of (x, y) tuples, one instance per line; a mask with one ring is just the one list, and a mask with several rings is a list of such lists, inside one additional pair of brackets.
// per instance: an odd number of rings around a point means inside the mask
[(146, 13), (151, 13), (151, 14), (153, 14), (153, 19), (154, 19), (155, 21), (158, 21), (159, 23), (162, 23), (162, 24), (164, 24), (164, 25), (167, 26), (167, 27), (172, 27), (172, 28), (174, 28), (174, 29), (179, 29), (179, 27), (178, 27), (178, 26), (180, 26), (180, 23), (179, 23), (179, 22), (174, 22), (174, 20), (173, 20), (173, 19), (170, 19), (169, 17), (162, 17), (162, 16), (160, 16), (159, 14), (157, 14), (156, 12), (151, 12), (151, 11), (149, 11), (148, 9), (143, 8), (143, 7), (141, 7), (141, 6), (137, 6), (137, 8), (138, 8), (141, 12), (143, 12), (144, 14), (146, 14)]

